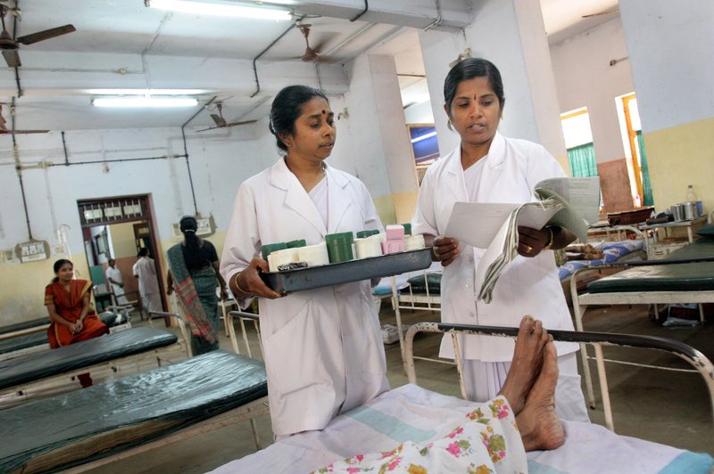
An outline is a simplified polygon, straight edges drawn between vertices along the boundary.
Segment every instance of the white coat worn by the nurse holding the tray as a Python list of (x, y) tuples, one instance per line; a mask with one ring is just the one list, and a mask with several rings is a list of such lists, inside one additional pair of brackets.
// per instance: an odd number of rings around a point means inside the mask
[[(328, 229), (284, 159), (240, 186), (220, 258), (227, 282), (264, 244), (304, 239), (313, 245), (328, 233), (383, 230), (359, 179), (330, 167), (326, 174)], [(276, 435), (323, 429), (389, 389), (369, 281), (263, 298), (260, 321)]]

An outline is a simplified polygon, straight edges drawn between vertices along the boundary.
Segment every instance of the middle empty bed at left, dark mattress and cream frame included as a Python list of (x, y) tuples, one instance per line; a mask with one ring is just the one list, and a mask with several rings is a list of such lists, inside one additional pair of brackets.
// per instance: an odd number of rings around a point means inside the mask
[(133, 328), (0, 362), (0, 408), (87, 388), (190, 356), (186, 341)]

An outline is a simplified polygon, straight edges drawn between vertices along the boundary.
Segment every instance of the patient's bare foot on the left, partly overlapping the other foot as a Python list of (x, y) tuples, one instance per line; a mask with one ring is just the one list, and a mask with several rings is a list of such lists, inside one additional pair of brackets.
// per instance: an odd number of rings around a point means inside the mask
[(543, 323), (532, 316), (523, 316), (511, 368), (499, 392), (499, 395), (506, 397), (516, 415), (523, 410), (528, 392), (538, 378), (547, 342), (548, 333), (543, 329)]

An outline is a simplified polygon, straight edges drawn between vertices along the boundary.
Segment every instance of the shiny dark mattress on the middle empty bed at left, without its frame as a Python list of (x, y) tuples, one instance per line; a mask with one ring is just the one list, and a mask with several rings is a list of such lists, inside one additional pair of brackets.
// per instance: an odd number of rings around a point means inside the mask
[(170, 346), (177, 340), (169, 331), (132, 328), (71, 346), (0, 361), (0, 389)]

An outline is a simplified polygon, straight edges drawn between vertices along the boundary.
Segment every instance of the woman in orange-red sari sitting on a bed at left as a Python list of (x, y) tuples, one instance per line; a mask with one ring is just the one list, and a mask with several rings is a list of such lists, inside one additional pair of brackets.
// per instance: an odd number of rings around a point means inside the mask
[(54, 262), (54, 280), (45, 287), (45, 306), (50, 315), (47, 337), (50, 348), (69, 346), (109, 332), (89, 303), (92, 282), (73, 280), (74, 266), (61, 258)]

